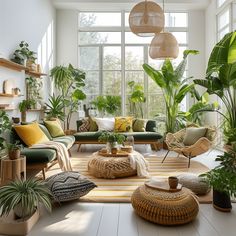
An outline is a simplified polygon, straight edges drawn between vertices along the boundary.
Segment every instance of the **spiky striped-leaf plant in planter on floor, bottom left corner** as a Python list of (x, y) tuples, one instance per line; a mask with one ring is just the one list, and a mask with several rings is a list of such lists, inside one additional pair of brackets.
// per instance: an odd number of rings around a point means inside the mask
[[(37, 179), (16, 180), (0, 187), (0, 233), (26, 235), (39, 218), (39, 205), (51, 211), (50, 190)], [(14, 212), (14, 215), (10, 214)]]

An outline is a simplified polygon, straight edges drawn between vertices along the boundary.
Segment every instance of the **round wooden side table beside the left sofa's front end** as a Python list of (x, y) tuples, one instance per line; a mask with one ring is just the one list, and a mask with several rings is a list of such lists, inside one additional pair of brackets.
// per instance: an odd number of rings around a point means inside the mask
[(1, 160), (1, 185), (12, 180), (26, 179), (26, 157), (21, 156), (16, 160), (4, 158)]

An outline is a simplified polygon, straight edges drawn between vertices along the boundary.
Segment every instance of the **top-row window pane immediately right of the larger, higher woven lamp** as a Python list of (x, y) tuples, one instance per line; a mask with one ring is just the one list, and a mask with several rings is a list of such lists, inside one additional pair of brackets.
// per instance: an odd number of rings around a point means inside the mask
[(165, 13), (166, 27), (187, 27), (188, 14), (187, 13)]

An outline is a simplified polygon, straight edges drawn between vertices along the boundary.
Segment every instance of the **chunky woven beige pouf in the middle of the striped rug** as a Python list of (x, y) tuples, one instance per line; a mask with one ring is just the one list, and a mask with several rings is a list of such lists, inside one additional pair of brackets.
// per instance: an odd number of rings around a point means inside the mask
[(88, 162), (88, 171), (97, 178), (115, 179), (137, 175), (130, 166), (129, 157), (95, 156)]

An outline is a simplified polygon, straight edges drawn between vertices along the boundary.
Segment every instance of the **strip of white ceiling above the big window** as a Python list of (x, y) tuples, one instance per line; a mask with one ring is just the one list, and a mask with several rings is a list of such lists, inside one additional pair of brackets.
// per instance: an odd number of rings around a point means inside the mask
[[(141, 0), (143, 1), (143, 0)], [(137, 0), (52, 0), (57, 9), (93, 10), (130, 10), (141, 1)], [(162, 6), (162, 0), (152, 0)], [(166, 10), (205, 9), (210, 0), (165, 0)]]

